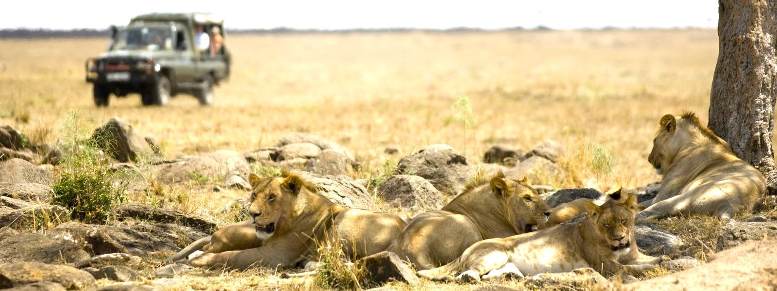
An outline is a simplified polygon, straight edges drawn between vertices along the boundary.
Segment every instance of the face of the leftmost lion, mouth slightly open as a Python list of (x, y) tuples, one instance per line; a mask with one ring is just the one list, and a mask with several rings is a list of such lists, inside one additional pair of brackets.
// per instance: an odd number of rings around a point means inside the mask
[(252, 185), (249, 216), (256, 227), (257, 237), (267, 239), (287, 223), (301, 186), (295, 178), (260, 179), (256, 175), (249, 175)]

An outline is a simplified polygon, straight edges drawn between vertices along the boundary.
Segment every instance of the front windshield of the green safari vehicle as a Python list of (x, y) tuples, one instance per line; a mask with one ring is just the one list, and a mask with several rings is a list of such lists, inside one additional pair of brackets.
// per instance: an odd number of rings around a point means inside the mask
[(171, 50), (170, 27), (125, 27), (120, 29), (110, 50)]

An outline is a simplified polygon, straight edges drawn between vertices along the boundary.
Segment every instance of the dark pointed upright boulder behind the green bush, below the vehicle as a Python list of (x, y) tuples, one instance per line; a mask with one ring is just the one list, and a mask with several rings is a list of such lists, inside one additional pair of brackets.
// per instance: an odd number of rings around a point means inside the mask
[(92, 140), (106, 154), (124, 163), (159, 155), (159, 151), (155, 151), (159, 145), (153, 144), (153, 139), (141, 137), (141, 134), (134, 132), (130, 123), (116, 116), (98, 127), (92, 133)]

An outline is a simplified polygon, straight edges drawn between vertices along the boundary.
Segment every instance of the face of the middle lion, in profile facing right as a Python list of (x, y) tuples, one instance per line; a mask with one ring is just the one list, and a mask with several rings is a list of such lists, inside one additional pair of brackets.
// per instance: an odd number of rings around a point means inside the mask
[(537, 230), (539, 224), (548, 221), (550, 207), (527, 182), (526, 178), (523, 181), (493, 178), (491, 185), (498, 195), (503, 191), (501, 195), (507, 197), (513, 223), (524, 232), (531, 232)]

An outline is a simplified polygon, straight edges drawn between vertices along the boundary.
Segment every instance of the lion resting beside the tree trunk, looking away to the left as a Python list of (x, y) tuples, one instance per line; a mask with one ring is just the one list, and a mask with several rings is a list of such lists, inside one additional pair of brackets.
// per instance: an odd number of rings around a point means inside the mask
[(761, 172), (737, 158), (694, 113), (661, 118), (648, 161), (664, 177), (638, 219), (701, 214), (729, 220), (752, 211), (766, 193)]

